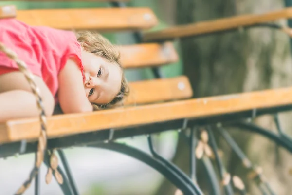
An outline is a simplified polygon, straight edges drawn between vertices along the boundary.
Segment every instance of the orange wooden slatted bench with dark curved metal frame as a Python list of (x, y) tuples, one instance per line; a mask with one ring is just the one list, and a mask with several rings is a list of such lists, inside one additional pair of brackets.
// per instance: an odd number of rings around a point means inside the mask
[[(0, 10), (1, 18), (16, 17), (30, 25), (46, 25), (66, 30), (87, 29), (101, 32), (127, 30), (132, 31), (134, 35), (150, 29), (158, 23), (156, 16), (149, 8), (113, 7), (16, 11), (13, 6), (5, 6)], [(115, 15), (112, 15), (112, 12)], [(291, 18), (291, 16), (292, 10), (285, 9), (264, 15), (241, 16), (144, 33), (142, 39), (150, 42), (121, 45), (121, 61), (125, 69), (152, 68), (156, 76), (159, 76), (157, 72), (160, 66), (178, 60), (173, 43), (164, 40), (203, 35), (239, 26)], [(78, 190), (73, 185), (73, 177), (68, 171), (69, 165), (66, 164), (66, 160), (64, 161), (65, 156), (61, 149), (87, 145), (118, 151), (139, 159), (163, 174), (185, 195), (201, 195), (200, 188), (193, 181), (193, 175), (190, 178), (175, 165), (155, 153), (151, 134), (174, 129), (184, 131), (194, 125), (238, 122), (239, 119), (292, 109), (291, 87), (218, 97), (192, 98), (192, 96), (191, 85), (185, 76), (157, 77), (151, 80), (130, 82), (130, 96), (126, 99), (123, 107), (92, 113), (58, 114), (48, 117), (47, 149), (57, 148), (62, 156), (66, 173), (59, 167), (58, 170), (63, 176), (66, 175), (63, 184), (60, 184), (64, 194), (76, 195)], [(253, 128), (255, 129), (255, 127), (251, 127), (251, 129)], [(256, 132), (261, 133), (260, 131)], [(212, 133), (210, 131), (208, 133), (210, 145), (216, 151)], [(36, 152), (39, 134), (40, 122), (38, 118), (9, 120), (0, 124), (0, 157), (12, 156), (19, 153), (20, 149), (21, 154)], [(118, 138), (144, 134), (149, 135), (151, 155), (114, 142)], [(269, 135), (270, 137), (268, 137), (274, 140), (282, 139), (277, 138), (276, 135)], [(189, 138), (193, 140), (193, 137)], [(107, 143), (104, 143), (105, 141)], [(279, 143), (292, 151), (291, 145), (287, 145), (286, 142)], [(194, 147), (190, 147), (190, 150), (193, 151)], [(217, 152), (215, 153), (217, 154)], [(192, 159), (194, 160), (194, 156)], [(45, 156), (44, 162), (48, 165), (48, 156)], [(226, 180), (222, 174), (221, 179)], [(226, 186), (229, 185), (230, 179), (226, 185), (224, 184), (224, 187), (227, 189)]]

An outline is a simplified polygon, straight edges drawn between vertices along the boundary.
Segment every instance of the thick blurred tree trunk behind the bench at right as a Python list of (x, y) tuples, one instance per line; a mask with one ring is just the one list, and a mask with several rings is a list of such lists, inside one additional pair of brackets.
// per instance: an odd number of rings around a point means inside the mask
[[(280, 0), (177, 0), (176, 2), (178, 24), (242, 14), (260, 14), (284, 7)], [(286, 20), (280, 22), (285, 24)], [(280, 31), (253, 28), (184, 39), (181, 40), (181, 48), (184, 74), (191, 81), (195, 98), (285, 87), (292, 84), (289, 38)], [(290, 117), (289, 113), (280, 115), (281, 124), (286, 132), (292, 127)], [(260, 117), (256, 123), (275, 129), (270, 116)], [(273, 142), (244, 131), (228, 130), (252, 162), (263, 168), (264, 175), (274, 192), (277, 195), (290, 194), (292, 186), (289, 183), (292, 181), (292, 176), (288, 175), (288, 169), (291, 168), (289, 161), (292, 155), (280, 149), (280, 156), (275, 160)], [(223, 161), (226, 169), (245, 181), (250, 194), (260, 194), (253, 182), (246, 179), (241, 161), (231, 153), (223, 140), (218, 139), (218, 141), (219, 148), (224, 151)], [(188, 173), (189, 151), (184, 142), (180, 138), (173, 162)], [(200, 187), (206, 190), (208, 183), (205, 182), (204, 173), (198, 171), (197, 176)], [(163, 181), (157, 195), (172, 195), (175, 190), (168, 181)]]

